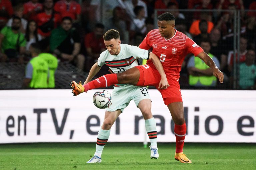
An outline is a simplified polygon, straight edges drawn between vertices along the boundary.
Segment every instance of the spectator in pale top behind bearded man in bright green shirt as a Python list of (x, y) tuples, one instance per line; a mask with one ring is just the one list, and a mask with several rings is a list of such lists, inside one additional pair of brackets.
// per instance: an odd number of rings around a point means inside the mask
[[(15, 6), (15, 7), (13, 7), (13, 10), (14, 10), (14, 15), (21, 18), (20, 31), (25, 34), (28, 21), (25, 20), (24, 18), (22, 18), (23, 17), (24, 7), (23, 7), (22, 4), (19, 4), (19, 5)], [(12, 26), (12, 21), (13, 21), (13, 18), (10, 18), (9, 21), (7, 22), (6, 26), (11, 27)]]

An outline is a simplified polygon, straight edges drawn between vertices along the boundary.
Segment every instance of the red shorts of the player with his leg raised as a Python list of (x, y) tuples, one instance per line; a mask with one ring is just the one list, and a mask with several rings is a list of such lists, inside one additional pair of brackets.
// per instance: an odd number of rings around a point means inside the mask
[(169, 87), (167, 89), (158, 89), (161, 76), (154, 65), (139, 65), (136, 68), (140, 71), (140, 79), (137, 83), (139, 86), (155, 86), (161, 93), (164, 104), (169, 105), (173, 102), (182, 102), (180, 92), (179, 77), (173, 75), (166, 75)]

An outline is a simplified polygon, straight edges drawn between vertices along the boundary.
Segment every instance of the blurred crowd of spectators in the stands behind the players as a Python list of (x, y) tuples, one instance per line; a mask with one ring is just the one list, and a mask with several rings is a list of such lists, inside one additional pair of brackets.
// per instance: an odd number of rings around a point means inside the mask
[[(56, 70), (57, 61), (88, 72), (106, 50), (105, 31), (118, 30), (121, 43), (138, 46), (157, 28), (155, 15), (171, 12), (175, 28), (200, 45), (225, 74), (220, 85), (210, 68), (190, 55), (182, 66), (181, 86), (232, 89), (235, 78), (237, 89), (256, 89), (254, 0), (0, 0), (0, 9), (0, 61), (28, 63), (25, 78), (31, 80), (24, 81), (24, 88), (34, 88), (33, 68), (38, 64), (33, 62), (41, 53), (51, 55), (41, 57), (48, 68), (55, 63), (50, 70)], [(155, 14), (155, 9), (161, 10)], [(235, 50), (234, 22), (240, 23)], [(106, 73), (103, 67), (98, 75)]]

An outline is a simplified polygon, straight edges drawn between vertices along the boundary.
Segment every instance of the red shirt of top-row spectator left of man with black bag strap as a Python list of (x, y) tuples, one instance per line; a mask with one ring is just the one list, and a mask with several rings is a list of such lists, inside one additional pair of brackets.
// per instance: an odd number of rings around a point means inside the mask
[[(43, 5), (41, 3), (32, 3), (31, 1), (25, 3), (24, 5), (24, 14), (31, 12), (29, 20), (35, 20), (36, 12), (43, 10)], [(33, 11), (33, 12), (32, 12)]]

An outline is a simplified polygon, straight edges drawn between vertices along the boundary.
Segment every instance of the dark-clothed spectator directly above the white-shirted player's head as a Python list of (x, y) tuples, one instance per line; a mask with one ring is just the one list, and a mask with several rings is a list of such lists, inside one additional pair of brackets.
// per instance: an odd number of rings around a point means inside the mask
[(127, 39), (125, 39), (127, 30), (126, 30), (126, 23), (125, 23), (125, 12), (120, 7), (115, 7), (112, 12), (112, 17), (107, 20), (106, 22), (106, 30), (114, 29), (117, 30), (120, 34), (120, 40), (122, 43), (128, 42)]

